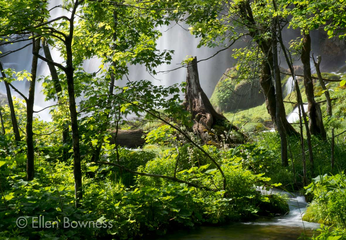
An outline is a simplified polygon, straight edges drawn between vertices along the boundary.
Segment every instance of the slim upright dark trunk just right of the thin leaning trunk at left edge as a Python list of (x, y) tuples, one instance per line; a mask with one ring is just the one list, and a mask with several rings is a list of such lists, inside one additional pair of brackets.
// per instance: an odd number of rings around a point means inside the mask
[(26, 100), (26, 144), (27, 144), (27, 161), (26, 174), (27, 180), (34, 179), (35, 174), (35, 151), (34, 151), (34, 133), (33, 133), (33, 115), (34, 115), (34, 100), (35, 100), (35, 83), (37, 74), (37, 54), (40, 48), (40, 39), (33, 40), (33, 62), (31, 64), (31, 81), (29, 86), (29, 97)]

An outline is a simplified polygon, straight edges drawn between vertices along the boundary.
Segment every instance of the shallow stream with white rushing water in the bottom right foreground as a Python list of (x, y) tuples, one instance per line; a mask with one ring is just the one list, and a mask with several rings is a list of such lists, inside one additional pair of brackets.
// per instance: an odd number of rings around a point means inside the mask
[[(263, 193), (266, 193), (262, 190)], [(300, 195), (293, 195), (281, 190), (271, 190), (269, 193), (287, 194), (289, 196), (290, 212), (283, 216), (260, 218), (252, 222), (241, 222), (220, 227), (200, 227), (191, 231), (167, 233), (160, 240), (197, 240), (197, 239), (231, 239), (231, 240), (295, 240), (306, 234), (312, 236), (313, 230), (319, 228), (318, 223), (302, 221), (307, 202)]]

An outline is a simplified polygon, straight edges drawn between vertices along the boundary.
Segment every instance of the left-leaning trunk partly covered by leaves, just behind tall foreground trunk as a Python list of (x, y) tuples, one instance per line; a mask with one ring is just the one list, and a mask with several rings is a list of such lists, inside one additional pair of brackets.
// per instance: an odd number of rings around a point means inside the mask
[[(53, 58), (51, 55), (51, 51), (49, 50), (49, 46), (48, 43), (46, 41), (45, 38), (43, 38), (42, 40), (42, 45), (43, 45), (43, 50), (44, 50), (44, 55), (45, 57), (49, 60), (53, 62)], [(49, 68), (49, 72), (51, 72), (51, 76), (52, 76), (52, 81), (54, 83), (54, 88), (55, 88), (55, 93), (56, 93), (56, 98), (58, 100), (58, 102), (60, 102), (61, 99), (61, 94), (62, 94), (62, 87), (59, 81), (59, 76), (58, 73), (56, 71), (55, 66), (52, 63), (47, 62), (48, 68)], [(62, 133), (62, 140), (63, 140), (63, 145), (69, 144), (69, 125), (70, 124), (65, 124), (65, 126), (63, 127), (63, 133)], [(66, 149), (64, 147), (63, 150), (63, 159), (66, 161), (68, 158), (68, 149)]]

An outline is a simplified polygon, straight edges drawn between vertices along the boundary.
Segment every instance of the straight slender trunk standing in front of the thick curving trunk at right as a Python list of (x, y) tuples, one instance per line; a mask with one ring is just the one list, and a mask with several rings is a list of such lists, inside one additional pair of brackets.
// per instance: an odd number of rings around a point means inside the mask
[(287, 138), (286, 132), (282, 122), (286, 120), (286, 113), (283, 106), (282, 88), (280, 71), (277, 60), (277, 39), (276, 39), (276, 19), (272, 21), (272, 51), (273, 51), (273, 77), (275, 83), (275, 97), (276, 97), (276, 126), (281, 139), (281, 164), (288, 166), (287, 157)]

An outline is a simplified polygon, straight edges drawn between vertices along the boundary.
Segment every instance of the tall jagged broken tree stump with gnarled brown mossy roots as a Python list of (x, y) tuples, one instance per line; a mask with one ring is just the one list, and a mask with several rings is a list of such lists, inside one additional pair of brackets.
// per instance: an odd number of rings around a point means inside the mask
[[(242, 133), (240, 133), (241, 137), (238, 139), (229, 136), (230, 130), (238, 131), (239, 129), (231, 124), (225, 116), (215, 111), (207, 95), (203, 92), (199, 82), (197, 57), (193, 58), (187, 68), (186, 94), (183, 105), (191, 113), (193, 119), (192, 131), (198, 134), (201, 140), (207, 144), (217, 141), (226, 141), (227, 143), (243, 142), (245, 136)], [(212, 128), (214, 128), (214, 132)]]

